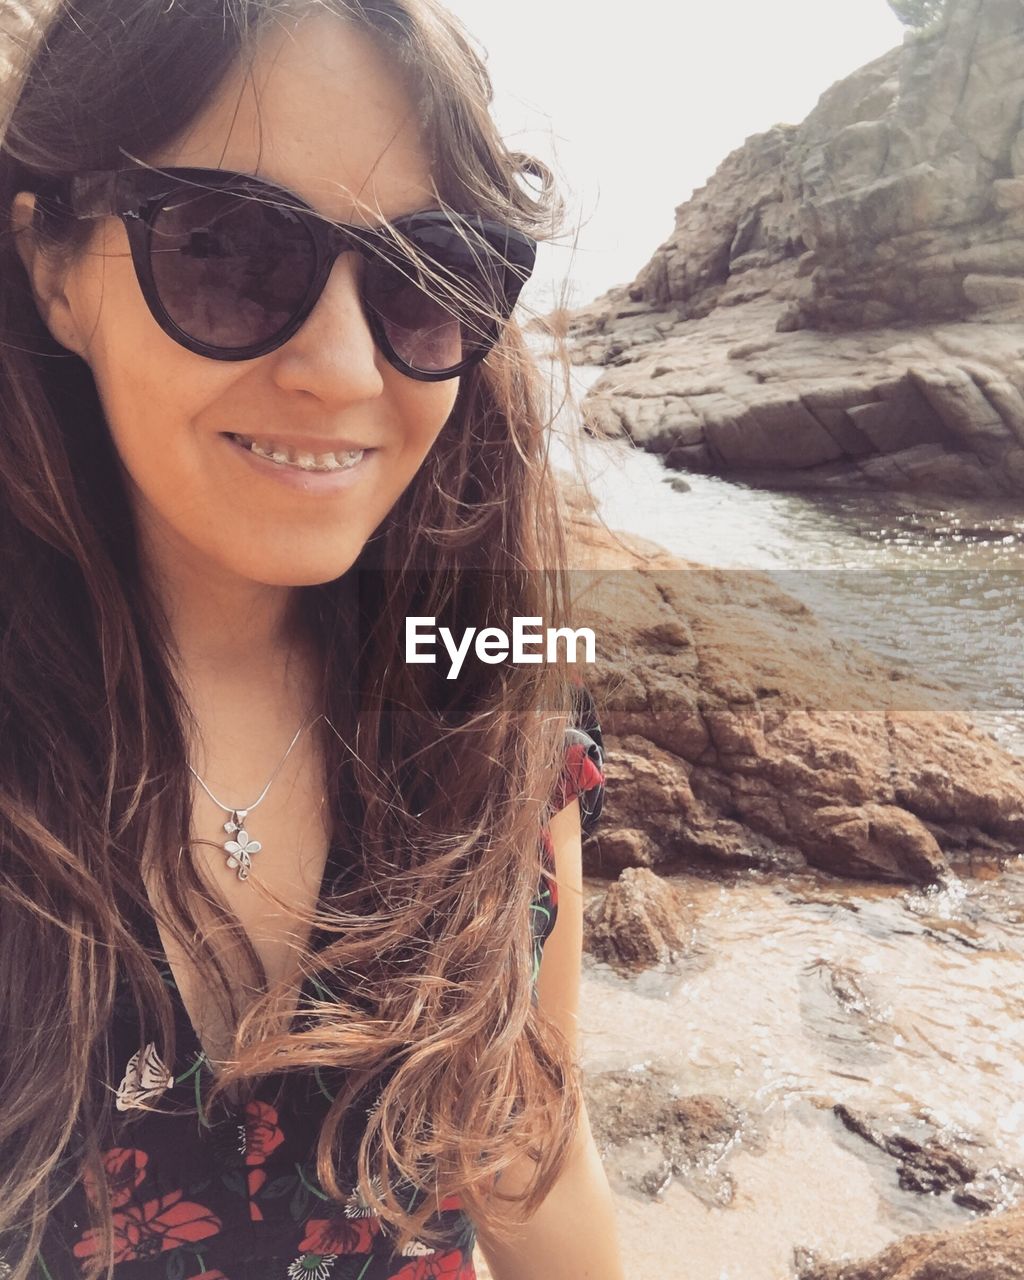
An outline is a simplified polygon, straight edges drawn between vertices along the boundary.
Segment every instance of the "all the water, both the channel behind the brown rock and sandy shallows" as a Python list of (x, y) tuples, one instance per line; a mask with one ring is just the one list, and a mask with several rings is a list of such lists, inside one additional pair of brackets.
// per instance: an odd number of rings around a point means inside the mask
[[(577, 370), (579, 389), (598, 370)], [(571, 425), (571, 415), (562, 419)], [(623, 444), (584, 442), (612, 529), (698, 563), (764, 570), (845, 636), (957, 689), (1024, 753), (1024, 506), (887, 494), (768, 493), (681, 477)], [(553, 461), (572, 468), (564, 442)], [(611, 760), (612, 785), (613, 765)], [(787, 1280), (797, 1251), (859, 1258), (977, 1213), (900, 1187), (897, 1162), (849, 1132), (845, 1103), (970, 1153), (995, 1204), (1024, 1190), (1024, 867), (941, 891), (824, 874), (680, 876), (690, 946), (622, 978), (585, 960), (590, 1078), (668, 1073), (749, 1128), (705, 1169), (637, 1190), (658, 1143), (605, 1155), (630, 1276)], [(585, 892), (605, 884), (588, 879)]]

